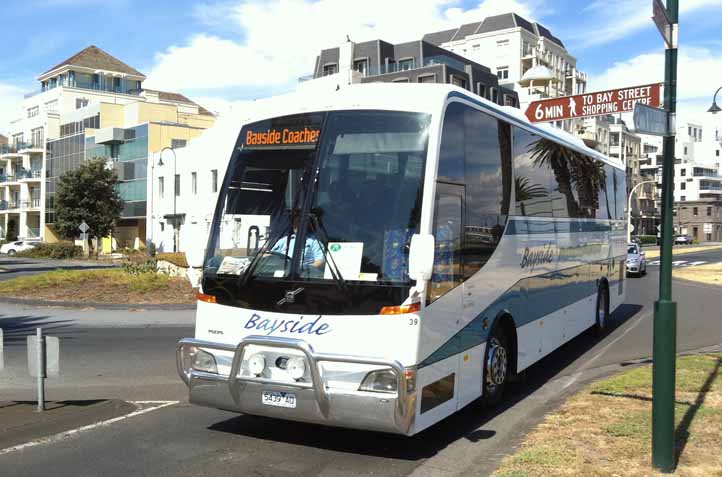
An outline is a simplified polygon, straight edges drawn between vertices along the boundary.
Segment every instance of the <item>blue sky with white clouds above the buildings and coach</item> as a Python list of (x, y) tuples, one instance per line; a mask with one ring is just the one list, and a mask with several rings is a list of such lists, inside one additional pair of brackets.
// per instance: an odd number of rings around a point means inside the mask
[[(722, 85), (722, 0), (681, 0), (680, 100), (690, 111)], [(590, 75), (590, 90), (662, 80), (649, 0), (5, 0), (0, 102), (95, 44), (211, 106), (293, 87), (321, 47), (349, 34), (404, 41), (516, 11), (547, 26)], [(10, 47), (8, 47), (10, 46)], [(700, 68), (699, 71), (693, 71)], [(720, 83), (716, 85), (715, 82)], [(693, 104), (694, 103), (694, 104)], [(682, 104), (684, 106), (684, 104)], [(220, 106), (219, 106), (220, 107)], [(5, 109), (5, 108), (0, 108)], [(0, 130), (4, 129), (0, 118)]]

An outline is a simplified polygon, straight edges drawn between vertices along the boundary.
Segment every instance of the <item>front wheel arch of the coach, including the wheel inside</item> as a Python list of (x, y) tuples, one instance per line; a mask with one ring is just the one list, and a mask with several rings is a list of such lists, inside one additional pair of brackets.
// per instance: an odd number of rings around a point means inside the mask
[[(481, 401), (486, 406), (494, 406), (501, 401), (506, 386), (516, 374), (516, 325), (510, 313), (501, 312), (494, 320), (483, 359)], [(504, 371), (500, 372), (502, 368)]]

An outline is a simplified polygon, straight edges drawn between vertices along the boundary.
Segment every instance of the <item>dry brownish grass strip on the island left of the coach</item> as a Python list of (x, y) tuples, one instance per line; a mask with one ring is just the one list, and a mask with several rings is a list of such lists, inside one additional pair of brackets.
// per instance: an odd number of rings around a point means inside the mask
[(0, 297), (107, 304), (195, 303), (188, 280), (123, 270), (55, 270), (0, 282)]

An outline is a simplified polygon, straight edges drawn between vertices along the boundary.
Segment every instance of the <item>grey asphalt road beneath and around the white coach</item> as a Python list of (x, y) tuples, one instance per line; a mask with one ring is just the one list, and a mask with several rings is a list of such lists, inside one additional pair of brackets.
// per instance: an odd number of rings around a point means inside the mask
[[(710, 261), (722, 261), (722, 251), (713, 252)], [(49, 383), (53, 399), (181, 402), (61, 442), (0, 455), (0, 469), (3, 475), (23, 476), (488, 475), (567, 395), (651, 355), (658, 268), (627, 283), (627, 304), (612, 317), (614, 329), (604, 339), (583, 334), (530, 368), (501, 407), (470, 405), (413, 438), (189, 406), (175, 374), (173, 350), (176, 339), (191, 329), (68, 326), (58, 331), (64, 338), (66, 374)], [(719, 287), (675, 281), (674, 298), (679, 351), (722, 343)], [(29, 327), (25, 332), (31, 332)], [(8, 345), (6, 360), (24, 359), (19, 343)], [(3, 393), (11, 397), (32, 389), (18, 375), (6, 383), (10, 386)]]

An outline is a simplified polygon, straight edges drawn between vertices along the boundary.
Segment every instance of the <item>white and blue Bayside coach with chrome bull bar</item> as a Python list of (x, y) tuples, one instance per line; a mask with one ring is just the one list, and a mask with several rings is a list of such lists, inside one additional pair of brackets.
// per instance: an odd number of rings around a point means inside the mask
[(406, 435), (497, 403), (624, 301), (625, 195), (618, 161), (454, 86), (289, 102), (230, 159), (190, 402)]

